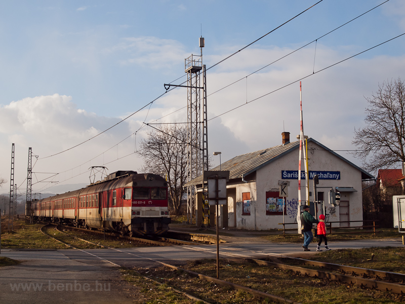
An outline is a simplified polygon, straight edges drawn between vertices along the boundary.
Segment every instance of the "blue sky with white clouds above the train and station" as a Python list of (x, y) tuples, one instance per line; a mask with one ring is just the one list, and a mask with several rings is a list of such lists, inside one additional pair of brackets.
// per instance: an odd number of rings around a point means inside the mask
[(12, 143), (17, 193), (29, 147), (33, 194), (90, 183), (92, 166), (141, 172), (145, 123), (187, 121), (186, 89), (164, 84), (186, 81), (200, 36), (210, 156), (281, 144), (283, 131), (295, 139), (301, 80), (305, 135), (361, 167), (347, 150), (366, 98), (405, 80), (405, 35), (380, 45), (405, 33), (405, 3), (384, 1), (0, 0), (0, 177), (10, 181)]

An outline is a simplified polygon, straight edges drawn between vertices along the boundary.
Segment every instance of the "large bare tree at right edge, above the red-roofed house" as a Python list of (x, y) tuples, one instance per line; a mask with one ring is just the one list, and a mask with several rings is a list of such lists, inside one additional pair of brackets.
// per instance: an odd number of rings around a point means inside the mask
[(366, 98), (366, 127), (354, 130), (353, 154), (363, 168), (376, 172), (405, 162), (405, 83), (400, 78), (379, 85), (377, 93)]

